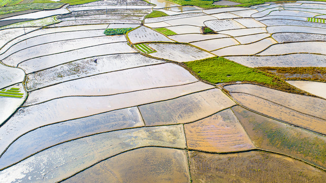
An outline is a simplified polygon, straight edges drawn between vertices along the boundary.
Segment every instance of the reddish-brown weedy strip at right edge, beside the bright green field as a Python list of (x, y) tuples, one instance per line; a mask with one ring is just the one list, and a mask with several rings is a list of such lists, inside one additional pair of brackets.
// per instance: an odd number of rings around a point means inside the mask
[(277, 75), (285, 80), (326, 82), (325, 67), (259, 67), (256, 69)]

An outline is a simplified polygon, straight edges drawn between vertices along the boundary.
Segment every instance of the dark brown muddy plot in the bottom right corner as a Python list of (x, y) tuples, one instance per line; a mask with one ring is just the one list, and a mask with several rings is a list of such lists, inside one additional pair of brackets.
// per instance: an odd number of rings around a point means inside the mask
[(250, 151), (208, 154), (189, 151), (193, 182), (324, 182), (324, 171), (289, 157)]

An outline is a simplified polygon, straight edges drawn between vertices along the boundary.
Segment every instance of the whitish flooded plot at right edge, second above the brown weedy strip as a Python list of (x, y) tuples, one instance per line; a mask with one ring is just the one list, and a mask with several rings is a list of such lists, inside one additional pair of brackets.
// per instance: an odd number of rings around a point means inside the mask
[(326, 42), (295, 42), (272, 45), (257, 55), (280, 55), (288, 53), (326, 53)]

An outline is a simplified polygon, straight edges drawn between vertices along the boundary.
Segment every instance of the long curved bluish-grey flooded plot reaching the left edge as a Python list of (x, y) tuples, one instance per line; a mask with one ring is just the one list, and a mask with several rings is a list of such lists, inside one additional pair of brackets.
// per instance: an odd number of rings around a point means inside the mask
[(71, 139), (141, 126), (144, 126), (141, 114), (136, 107), (132, 107), (41, 127), (11, 144), (0, 158), (0, 168)]

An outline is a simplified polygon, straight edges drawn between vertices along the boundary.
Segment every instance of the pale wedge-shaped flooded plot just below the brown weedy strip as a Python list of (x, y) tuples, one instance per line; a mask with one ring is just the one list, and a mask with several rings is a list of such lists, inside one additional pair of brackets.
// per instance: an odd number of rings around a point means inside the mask
[(305, 90), (306, 92), (309, 92), (310, 94), (322, 97), (326, 99), (326, 83), (324, 82), (314, 82), (314, 81), (286, 81), (289, 84), (300, 88), (302, 90)]

